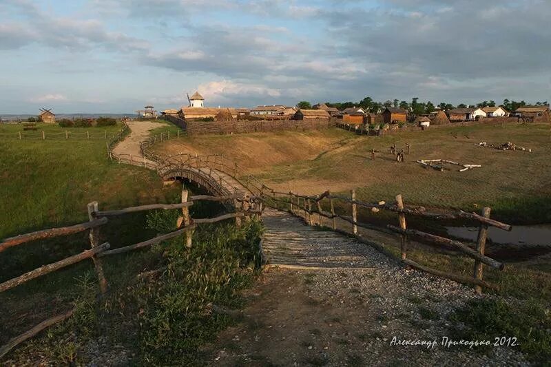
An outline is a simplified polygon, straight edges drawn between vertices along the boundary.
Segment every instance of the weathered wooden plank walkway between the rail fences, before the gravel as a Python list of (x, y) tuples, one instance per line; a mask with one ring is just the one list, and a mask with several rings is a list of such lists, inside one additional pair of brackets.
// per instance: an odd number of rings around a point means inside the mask
[(275, 209), (265, 209), (262, 250), (267, 264), (291, 269), (362, 269), (392, 266), (372, 247)]

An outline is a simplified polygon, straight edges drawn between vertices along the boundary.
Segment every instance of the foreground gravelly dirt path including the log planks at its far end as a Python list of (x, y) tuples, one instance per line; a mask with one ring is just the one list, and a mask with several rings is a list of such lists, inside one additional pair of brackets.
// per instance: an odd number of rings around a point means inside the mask
[[(406, 271), (371, 247), (316, 231), (288, 213), (267, 210), (263, 249), (271, 264), (245, 295), (236, 326), (207, 346), (215, 366), (523, 365), (512, 348), (484, 354), (454, 339), (448, 315), (471, 288)], [(286, 240), (287, 239), (287, 240)], [(293, 267), (294, 266), (294, 267)], [(289, 269), (290, 268), (290, 269)], [(426, 340), (437, 345), (391, 345)]]

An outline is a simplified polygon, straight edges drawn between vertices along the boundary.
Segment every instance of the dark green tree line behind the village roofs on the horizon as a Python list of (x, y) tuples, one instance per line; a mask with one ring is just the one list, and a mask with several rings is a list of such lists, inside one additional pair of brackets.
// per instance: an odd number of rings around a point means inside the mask
[[(378, 113), (381, 112), (386, 107), (399, 107), (402, 109), (406, 109), (407, 111), (419, 116), (424, 114), (430, 114), (431, 112), (434, 112), (437, 107), (439, 109), (454, 109), (454, 108), (467, 108), (467, 107), (496, 107), (497, 103), (495, 101), (482, 101), (480, 103), (477, 103), (476, 105), (467, 105), (466, 103), (459, 103), (459, 105), (455, 106), (448, 102), (440, 102), (438, 105), (435, 105), (431, 101), (427, 102), (419, 102), (419, 97), (413, 97), (411, 98), (411, 102), (407, 101), (399, 101), (399, 99), (393, 99), (387, 100), (384, 102), (376, 102), (371, 98), (370, 96), (367, 96), (366, 98), (362, 99), (362, 101), (359, 102), (326, 102), (325, 103), (329, 107), (336, 107), (340, 111), (343, 109), (349, 108), (349, 107), (362, 107), (366, 110), (366, 112), (374, 112)], [(504, 99), (501, 106), (508, 111), (514, 111), (515, 109), (519, 107), (523, 107), (529, 105), (525, 101), (510, 101), (509, 99)], [(540, 106), (540, 105), (548, 105), (548, 101), (544, 102), (536, 102), (534, 105)], [(298, 108), (302, 109), (311, 109), (313, 108), (311, 103), (308, 101), (300, 101), (296, 105)]]

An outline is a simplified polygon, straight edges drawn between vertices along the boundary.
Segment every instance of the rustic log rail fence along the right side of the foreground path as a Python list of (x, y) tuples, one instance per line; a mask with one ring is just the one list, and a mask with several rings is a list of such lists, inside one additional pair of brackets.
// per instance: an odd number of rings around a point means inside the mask
[[(488, 231), (488, 226), (497, 227), (503, 229), (504, 231), (510, 231), (511, 226), (499, 222), (497, 220), (490, 219), (490, 208), (485, 207), (482, 209), (481, 215), (477, 213), (467, 213), (465, 211), (448, 211), (446, 213), (430, 213), (424, 209), (424, 207), (406, 207), (404, 206), (404, 200), (401, 195), (396, 196), (395, 204), (387, 204), (386, 202), (364, 202), (357, 200), (355, 198), (355, 191), (351, 191), (351, 196), (349, 198), (343, 196), (335, 196), (329, 191), (325, 191), (318, 196), (304, 196), (290, 191), (289, 193), (282, 193), (278, 191), (265, 191), (264, 200), (266, 205), (269, 205), (269, 202), (273, 202), (275, 207), (282, 207), (293, 213), (295, 216), (300, 216), (304, 218), (306, 223), (313, 224), (313, 215), (318, 215), (319, 222), (321, 223), (321, 218), (327, 218), (331, 220), (331, 229), (334, 231), (340, 231), (337, 229), (336, 219), (344, 220), (352, 224), (351, 235), (354, 235), (358, 240), (365, 242), (365, 240), (357, 234), (357, 228), (362, 227), (365, 229), (371, 229), (375, 231), (380, 231), (384, 233), (399, 234), (400, 235), (400, 260), (404, 266), (411, 266), (415, 269), (425, 271), (433, 275), (440, 277), (446, 277), (450, 280), (455, 280), (456, 282), (464, 284), (473, 284), (477, 293), (481, 293), (481, 287), (486, 287), (488, 289), (497, 289), (495, 284), (490, 284), (483, 280), (483, 264), (492, 266), (492, 268), (503, 270), (503, 264), (489, 258), (484, 255), (486, 249), (486, 235)], [(341, 202), (346, 205), (350, 205), (351, 212), (349, 215), (344, 213), (335, 213), (335, 202)], [(329, 207), (328, 210), (323, 209), (323, 203), (325, 202), (325, 207)], [(374, 224), (368, 224), (359, 222), (357, 220), (357, 209), (364, 208), (371, 211), (371, 213), (378, 213), (381, 210), (391, 211), (397, 214), (397, 223), (398, 225), (388, 224), (386, 227), (376, 226)], [(418, 231), (416, 229), (408, 229), (406, 225), (406, 214), (408, 216), (419, 216), (427, 218), (430, 220), (454, 220), (454, 219), (466, 219), (474, 220), (479, 222), (479, 233), (477, 239), (476, 249), (471, 249), (467, 244), (459, 242), (457, 240), (450, 240), (449, 238), (444, 238), (439, 235), (433, 235), (431, 233), (426, 233), (423, 231)], [(453, 273), (448, 273), (445, 271), (439, 271), (437, 269), (418, 264), (413, 260), (407, 258), (408, 254), (408, 238), (419, 238), (424, 242), (430, 242), (432, 244), (437, 244), (439, 246), (451, 247), (465, 255), (468, 255), (470, 258), (475, 260), (473, 275), (472, 277), (466, 277), (464, 275), (457, 275)], [(369, 244), (377, 247), (378, 249), (384, 251), (388, 254), (388, 251), (383, 247), (369, 242)]]

